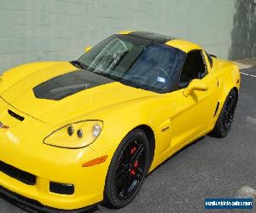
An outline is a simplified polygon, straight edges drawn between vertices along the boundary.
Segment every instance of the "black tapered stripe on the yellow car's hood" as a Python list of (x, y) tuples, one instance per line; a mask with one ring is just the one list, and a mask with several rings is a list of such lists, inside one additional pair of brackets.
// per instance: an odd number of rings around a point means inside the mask
[(39, 99), (58, 101), (85, 89), (112, 82), (112, 79), (96, 73), (78, 70), (56, 76), (55, 78), (40, 83), (33, 88), (33, 92)]

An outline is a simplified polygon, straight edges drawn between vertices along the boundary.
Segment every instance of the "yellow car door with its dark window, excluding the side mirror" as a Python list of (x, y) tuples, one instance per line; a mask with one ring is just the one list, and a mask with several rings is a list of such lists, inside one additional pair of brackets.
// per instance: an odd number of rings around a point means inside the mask
[[(218, 103), (218, 78), (212, 72), (202, 49), (189, 52), (183, 64), (179, 88), (175, 91), (175, 109), (172, 117), (171, 147), (177, 149), (204, 135), (212, 121)], [(201, 79), (207, 90), (192, 90), (186, 97), (183, 92), (194, 79)]]

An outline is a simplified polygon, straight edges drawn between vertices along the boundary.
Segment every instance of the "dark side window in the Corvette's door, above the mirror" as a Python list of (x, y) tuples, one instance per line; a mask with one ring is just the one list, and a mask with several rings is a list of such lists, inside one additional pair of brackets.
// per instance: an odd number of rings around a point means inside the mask
[(181, 73), (179, 88), (185, 88), (195, 78), (204, 78), (207, 66), (201, 50), (193, 50), (186, 56)]

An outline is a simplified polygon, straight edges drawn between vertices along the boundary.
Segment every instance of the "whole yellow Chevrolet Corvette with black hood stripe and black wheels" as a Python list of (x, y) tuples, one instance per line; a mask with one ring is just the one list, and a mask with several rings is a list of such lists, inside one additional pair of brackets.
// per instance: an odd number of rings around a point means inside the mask
[(0, 192), (54, 212), (121, 208), (173, 153), (227, 135), (241, 78), (195, 43), (120, 32), (0, 80)]

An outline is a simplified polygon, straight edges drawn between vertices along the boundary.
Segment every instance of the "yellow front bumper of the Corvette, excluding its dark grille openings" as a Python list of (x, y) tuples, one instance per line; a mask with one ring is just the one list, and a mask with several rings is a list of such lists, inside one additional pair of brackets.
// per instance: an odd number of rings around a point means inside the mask
[[(15, 118), (10, 118), (5, 113), (10, 106), (3, 104), (0, 101), (0, 121), (9, 124), (10, 128), (0, 129), (0, 161), (22, 174), (25, 172), (35, 176), (35, 183), (27, 184), (26, 181), (22, 181), (23, 179), (20, 181), (18, 173), (13, 175), (0, 170), (2, 193), (13, 199), (12, 194), (17, 193), (18, 198), (34, 200), (37, 206), (43, 206), (44, 210), (49, 207), (57, 210), (79, 210), (102, 201), (108, 165), (115, 147), (96, 151), (90, 147), (66, 149), (45, 145), (44, 138), (40, 135), (47, 135), (50, 129), (48, 124), (30, 118), (22, 112), (19, 114), (25, 118), (24, 121), (12, 120)], [(17, 112), (15, 108), (11, 109)], [(31, 130), (28, 130), (30, 127)], [(99, 137), (97, 140), (102, 138)], [(82, 167), (82, 164), (103, 155), (108, 155), (103, 164)], [(49, 183), (52, 181), (73, 184), (74, 193), (50, 192)]]

